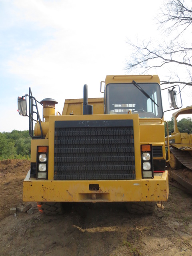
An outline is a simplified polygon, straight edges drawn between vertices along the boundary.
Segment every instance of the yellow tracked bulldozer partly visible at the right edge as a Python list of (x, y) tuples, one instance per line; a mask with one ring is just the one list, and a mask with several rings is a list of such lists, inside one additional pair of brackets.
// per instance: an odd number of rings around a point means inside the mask
[(166, 158), (169, 159), (169, 178), (174, 179), (192, 192), (192, 134), (189, 129), (180, 132), (177, 126), (179, 115), (192, 114), (192, 106), (182, 108), (172, 114), (174, 130), (166, 137), (170, 145)]

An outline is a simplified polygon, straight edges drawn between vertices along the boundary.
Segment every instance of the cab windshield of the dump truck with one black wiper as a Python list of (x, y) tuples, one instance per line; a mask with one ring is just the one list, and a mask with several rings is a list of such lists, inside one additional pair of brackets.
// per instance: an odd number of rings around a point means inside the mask
[(107, 114), (139, 114), (140, 118), (162, 118), (160, 85), (157, 83), (107, 84)]

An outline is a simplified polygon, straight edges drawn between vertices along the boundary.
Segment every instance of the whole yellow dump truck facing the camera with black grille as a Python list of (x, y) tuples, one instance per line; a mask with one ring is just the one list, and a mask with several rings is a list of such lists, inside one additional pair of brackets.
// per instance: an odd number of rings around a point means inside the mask
[(88, 99), (84, 85), (84, 98), (65, 100), (61, 115), (58, 102), (38, 102), (31, 89), (18, 97), (32, 137), (23, 200), (46, 214), (68, 202), (125, 202), (129, 212), (146, 214), (168, 199), (159, 77), (106, 76), (100, 87), (104, 97)]

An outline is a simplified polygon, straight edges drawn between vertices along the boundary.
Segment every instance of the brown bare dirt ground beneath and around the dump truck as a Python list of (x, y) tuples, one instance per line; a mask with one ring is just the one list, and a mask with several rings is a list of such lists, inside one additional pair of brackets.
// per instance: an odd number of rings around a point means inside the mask
[[(10, 215), (24, 205), (30, 162), (0, 162), (1, 256), (192, 256), (192, 195), (170, 185), (165, 209), (128, 214), (123, 203), (74, 204), (62, 216)], [(26, 203), (25, 203), (26, 204)]]

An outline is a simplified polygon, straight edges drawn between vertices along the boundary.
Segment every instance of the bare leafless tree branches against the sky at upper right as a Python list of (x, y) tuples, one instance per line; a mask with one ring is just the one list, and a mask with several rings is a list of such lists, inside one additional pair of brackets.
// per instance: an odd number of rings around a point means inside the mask
[(192, 3), (190, 6), (187, 4), (189, 4), (187, 0), (167, 0), (167, 4), (162, 9), (163, 16), (158, 20), (160, 26), (166, 28), (167, 36), (172, 36), (174, 31), (174, 38), (171, 38), (169, 43), (156, 44), (149, 41), (134, 44), (131, 40), (127, 41), (132, 49), (130, 59), (126, 62), (127, 72), (141, 69), (146, 73), (150, 69), (160, 69), (164, 66), (171, 68), (174, 65), (180, 67), (178, 70), (184, 68), (183, 73), (186, 73), (186, 78), (183, 78), (183, 74), (180, 78), (179, 74), (172, 72), (175, 73), (174, 76), (170, 75), (172, 79), (164, 80), (161, 84), (192, 86), (192, 43), (191, 40), (183, 42), (180, 38), (186, 31), (189, 38), (192, 32)]

